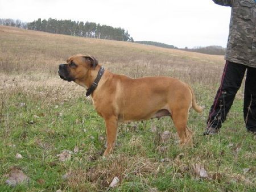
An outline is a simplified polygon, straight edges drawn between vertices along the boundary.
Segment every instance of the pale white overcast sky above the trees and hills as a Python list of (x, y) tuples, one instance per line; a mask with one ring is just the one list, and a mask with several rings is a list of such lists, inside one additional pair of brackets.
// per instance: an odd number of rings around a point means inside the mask
[(0, 0), (0, 18), (95, 22), (179, 48), (226, 47), (230, 11), (212, 0)]

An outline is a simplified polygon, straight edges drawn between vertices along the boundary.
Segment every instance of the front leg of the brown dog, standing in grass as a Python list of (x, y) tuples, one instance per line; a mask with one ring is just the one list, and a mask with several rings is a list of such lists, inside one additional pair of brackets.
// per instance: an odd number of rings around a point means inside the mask
[(103, 156), (107, 156), (114, 149), (115, 139), (117, 138), (117, 118), (115, 116), (106, 118), (105, 124), (106, 124), (107, 148)]

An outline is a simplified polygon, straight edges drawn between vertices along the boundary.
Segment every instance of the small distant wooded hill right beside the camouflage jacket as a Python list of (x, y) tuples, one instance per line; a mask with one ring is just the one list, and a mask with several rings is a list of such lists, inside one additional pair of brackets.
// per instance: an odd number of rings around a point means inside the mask
[(221, 46), (216, 46), (216, 45), (212, 45), (208, 47), (196, 47), (193, 49), (185, 48), (181, 50), (189, 51), (189, 52), (205, 53), (209, 55), (225, 55), (226, 53), (226, 48), (223, 48)]

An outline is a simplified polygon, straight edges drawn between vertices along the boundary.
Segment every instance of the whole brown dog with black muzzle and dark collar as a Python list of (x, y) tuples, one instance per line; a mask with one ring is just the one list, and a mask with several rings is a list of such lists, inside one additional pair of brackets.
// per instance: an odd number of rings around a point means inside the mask
[(93, 105), (105, 119), (107, 148), (113, 151), (118, 122), (131, 122), (170, 116), (174, 121), (180, 144), (192, 145), (192, 131), (187, 127), (188, 111), (203, 108), (197, 105), (195, 94), (184, 82), (171, 77), (132, 79), (104, 71), (98, 61), (88, 55), (74, 55), (67, 64), (59, 65), (59, 76), (88, 89)]

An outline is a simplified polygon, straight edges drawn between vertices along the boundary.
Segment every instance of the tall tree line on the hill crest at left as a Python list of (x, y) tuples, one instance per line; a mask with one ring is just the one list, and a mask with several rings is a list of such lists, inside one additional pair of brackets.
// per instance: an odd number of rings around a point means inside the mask
[(114, 28), (93, 22), (84, 23), (79, 21), (76, 22), (74, 20), (57, 20), (52, 18), (42, 20), (39, 18), (38, 20), (34, 20), (30, 23), (23, 23), (20, 20), (0, 19), (0, 25), (44, 31), (52, 34), (64, 34), (117, 41), (134, 41), (128, 31), (121, 27)]

